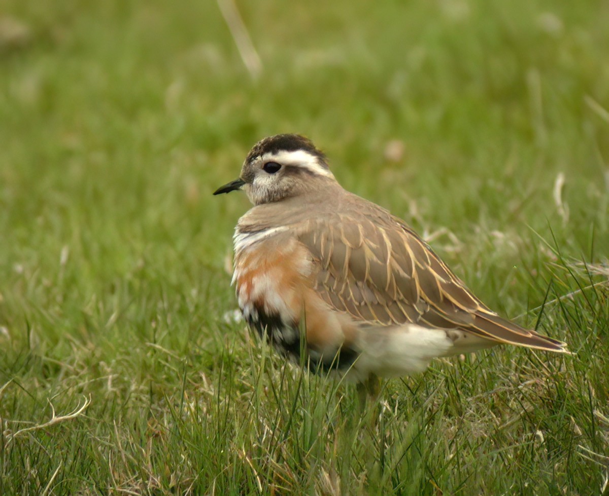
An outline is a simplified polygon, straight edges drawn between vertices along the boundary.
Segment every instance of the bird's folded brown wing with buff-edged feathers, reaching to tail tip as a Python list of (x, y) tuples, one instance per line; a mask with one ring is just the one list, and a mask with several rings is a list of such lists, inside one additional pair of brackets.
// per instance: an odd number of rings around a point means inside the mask
[(295, 230), (317, 266), (315, 290), (356, 322), (462, 329), (496, 342), (566, 351), (565, 343), (488, 309), (423, 239), (380, 208), (308, 219)]

